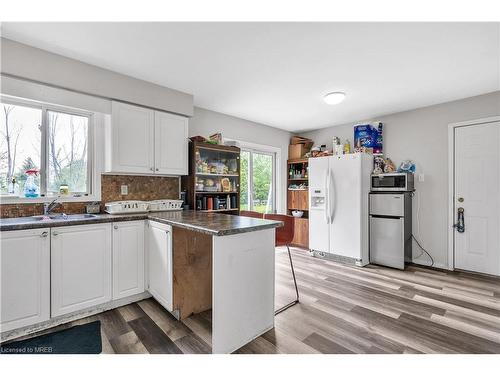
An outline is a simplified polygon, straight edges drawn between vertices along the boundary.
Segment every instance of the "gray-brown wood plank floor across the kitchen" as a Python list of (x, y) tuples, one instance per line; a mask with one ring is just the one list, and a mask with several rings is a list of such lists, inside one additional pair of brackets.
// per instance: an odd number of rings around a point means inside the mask
[[(500, 353), (500, 278), (292, 256), (300, 304), (237, 353)], [(276, 307), (294, 295), (281, 250), (276, 293)], [(210, 353), (209, 311), (179, 322), (153, 299), (52, 330), (97, 319), (104, 353)]]

